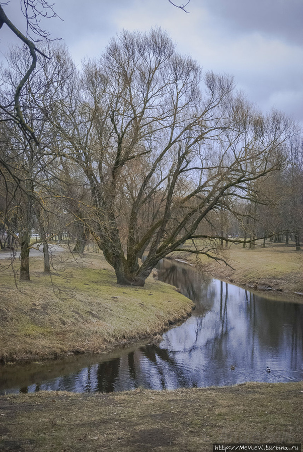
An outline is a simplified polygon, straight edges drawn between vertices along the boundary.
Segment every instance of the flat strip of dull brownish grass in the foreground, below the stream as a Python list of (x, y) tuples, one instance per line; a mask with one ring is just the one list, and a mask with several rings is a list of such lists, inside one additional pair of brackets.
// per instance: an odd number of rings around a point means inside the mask
[(300, 442), (303, 383), (36, 393), (0, 398), (0, 450), (211, 451), (213, 442)]

